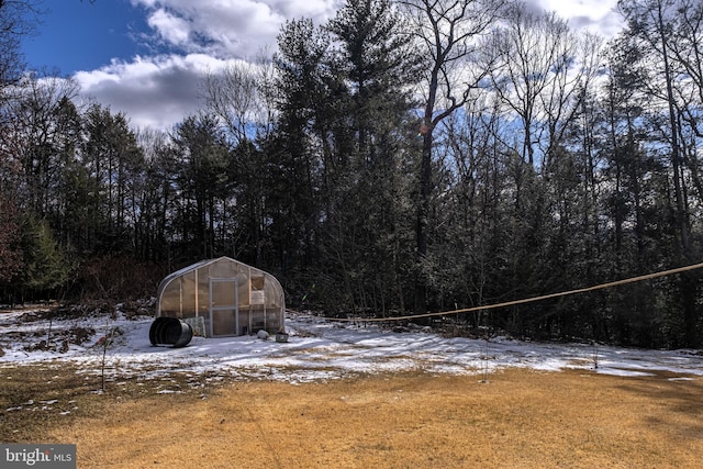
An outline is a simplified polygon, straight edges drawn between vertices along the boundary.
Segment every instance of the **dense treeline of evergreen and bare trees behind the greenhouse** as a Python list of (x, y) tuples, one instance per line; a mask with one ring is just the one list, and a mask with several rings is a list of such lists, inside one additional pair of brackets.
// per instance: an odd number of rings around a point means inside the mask
[[(347, 0), (203, 78), (171, 132), (0, 55), (4, 301), (155, 294), (224, 255), (291, 306), (391, 316), (698, 263), (703, 4), (618, 8), (604, 42), (520, 3)], [(699, 347), (702, 300), (693, 271), (456, 319)]]

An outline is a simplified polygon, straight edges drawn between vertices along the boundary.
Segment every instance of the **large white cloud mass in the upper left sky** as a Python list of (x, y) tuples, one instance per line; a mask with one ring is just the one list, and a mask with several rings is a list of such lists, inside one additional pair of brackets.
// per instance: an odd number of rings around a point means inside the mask
[(168, 53), (113, 59), (75, 78), (83, 96), (124, 112), (134, 126), (169, 130), (201, 107), (207, 71), (272, 51), (287, 19), (322, 23), (342, 0), (131, 1), (152, 29), (141, 40)]

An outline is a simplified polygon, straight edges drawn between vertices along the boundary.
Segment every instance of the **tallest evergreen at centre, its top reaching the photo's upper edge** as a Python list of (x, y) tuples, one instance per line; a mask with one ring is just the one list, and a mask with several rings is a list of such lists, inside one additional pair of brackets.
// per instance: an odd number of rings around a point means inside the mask
[(336, 211), (324, 225), (328, 265), (342, 273), (353, 309), (404, 309), (414, 180), (409, 87), (420, 60), (389, 1), (349, 0), (327, 29), (338, 44), (341, 105), (353, 131)]

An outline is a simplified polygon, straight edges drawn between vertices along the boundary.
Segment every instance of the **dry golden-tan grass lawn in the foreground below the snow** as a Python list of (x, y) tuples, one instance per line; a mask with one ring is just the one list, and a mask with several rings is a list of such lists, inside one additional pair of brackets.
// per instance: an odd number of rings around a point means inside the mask
[(507, 370), (102, 395), (79, 468), (698, 468), (703, 379)]

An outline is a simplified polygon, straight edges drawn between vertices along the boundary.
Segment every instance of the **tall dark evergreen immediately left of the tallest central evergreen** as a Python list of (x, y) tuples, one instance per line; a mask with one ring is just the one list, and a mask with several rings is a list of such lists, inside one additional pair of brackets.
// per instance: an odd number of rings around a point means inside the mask
[(317, 270), (317, 233), (330, 212), (333, 168), (338, 166), (333, 156), (338, 144), (331, 132), (338, 124), (325, 115), (334, 115), (342, 89), (327, 67), (330, 41), (311, 20), (290, 21), (281, 29), (274, 57), (279, 114), (263, 144), (269, 161), (267, 185), (276, 188), (267, 200), (274, 263), (299, 291), (313, 282), (320, 290), (325, 284)]

